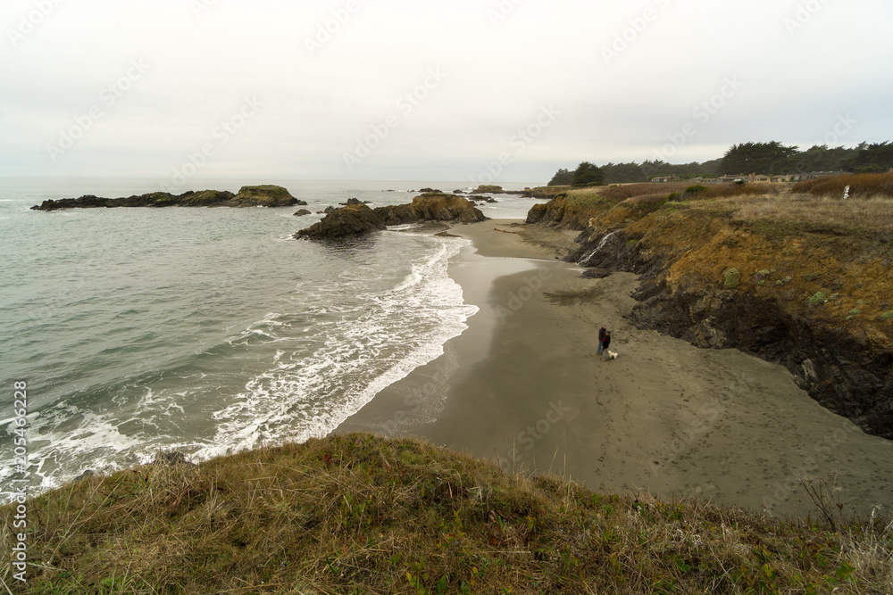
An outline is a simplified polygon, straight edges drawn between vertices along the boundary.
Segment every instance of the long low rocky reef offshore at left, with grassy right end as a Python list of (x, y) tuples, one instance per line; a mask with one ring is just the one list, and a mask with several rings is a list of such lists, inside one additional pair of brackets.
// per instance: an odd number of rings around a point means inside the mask
[(48, 200), (31, 207), (32, 211), (60, 209), (111, 209), (115, 207), (288, 207), (306, 204), (298, 201), (282, 186), (242, 186), (238, 194), (219, 190), (202, 190), (170, 194), (154, 192), (127, 198), (102, 198), (88, 194), (80, 198)]

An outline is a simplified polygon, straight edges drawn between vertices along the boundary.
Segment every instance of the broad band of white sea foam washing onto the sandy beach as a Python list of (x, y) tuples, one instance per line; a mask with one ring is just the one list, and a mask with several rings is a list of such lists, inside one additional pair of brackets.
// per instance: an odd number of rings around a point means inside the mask
[(315, 331), (326, 339), (311, 355), (283, 354), (252, 378), (237, 402), (213, 414), (217, 435), (197, 454), (328, 434), (380, 390), (438, 358), (478, 309), (463, 303), (462, 288), (447, 276), (447, 261), (467, 242), (431, 241), (433, 250), (396, 287), (361, 295), (361, 309), (342, 308), (338, 319), (318, 322)]

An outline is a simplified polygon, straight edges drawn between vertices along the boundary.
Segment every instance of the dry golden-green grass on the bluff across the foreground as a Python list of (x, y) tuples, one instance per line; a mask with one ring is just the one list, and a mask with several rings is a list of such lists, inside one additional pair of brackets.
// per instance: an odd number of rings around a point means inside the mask
[(93, 477), (29, 517), (19, 593), (893, 590), (889, 518), (621, 498), (367, 434)]

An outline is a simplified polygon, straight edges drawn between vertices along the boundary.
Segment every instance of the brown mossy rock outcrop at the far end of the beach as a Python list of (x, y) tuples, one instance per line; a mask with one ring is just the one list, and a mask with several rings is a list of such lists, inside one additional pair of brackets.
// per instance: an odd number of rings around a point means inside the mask
[(458, 221), (475, 223), (487, 218), (471, 202), (455, 196), (432, 192), (416, 196), (410, 204), (391, 205), (370, 209), (354, 202), (326, 215), (319, 223), (302, 229), (296, 238), (331, 240), (360, 236), (379, 231), (389, 225), (405, 225), (420, 221)]

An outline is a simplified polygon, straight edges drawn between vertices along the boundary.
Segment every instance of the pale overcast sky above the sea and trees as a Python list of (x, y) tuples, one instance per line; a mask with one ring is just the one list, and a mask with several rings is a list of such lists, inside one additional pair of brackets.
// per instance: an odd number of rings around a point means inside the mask
[(4, 0), (0, 176), (541, 182), (893, 139), (889, 0)]

